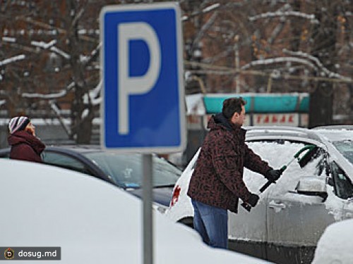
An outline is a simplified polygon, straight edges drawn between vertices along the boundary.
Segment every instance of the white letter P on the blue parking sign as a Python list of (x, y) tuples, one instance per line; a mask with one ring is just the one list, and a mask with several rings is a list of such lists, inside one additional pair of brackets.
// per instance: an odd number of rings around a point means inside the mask
[[(130, 40), (143, 40), (150, 51), (150, 65), (145, 75), (129, 75)], [(131, 94), (145, 94), (154, 86), (160, 75), (160, 42), (155, 30), (148, 23), (125, 23), (118, 25), (118, 124), (119, 134), (128, 134), (128, 100)]]

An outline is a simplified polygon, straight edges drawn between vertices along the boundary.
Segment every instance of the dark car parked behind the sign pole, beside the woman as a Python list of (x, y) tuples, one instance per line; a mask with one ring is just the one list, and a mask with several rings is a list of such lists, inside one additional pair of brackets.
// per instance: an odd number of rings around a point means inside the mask
[[(0, 158), (8, 158), (10, 148), (0, 150)], [(42, 154), (44, 163), (76, 170), (112, 183), (142, 196), (142, 155), (137, 153), (117, 154), (104, 151), (99, 146), (47, 146)], [(164, 213), (172, 198), (175, 182), (181, 170), (164, 158), (153, 155), (153, 200), (154, 206)]]

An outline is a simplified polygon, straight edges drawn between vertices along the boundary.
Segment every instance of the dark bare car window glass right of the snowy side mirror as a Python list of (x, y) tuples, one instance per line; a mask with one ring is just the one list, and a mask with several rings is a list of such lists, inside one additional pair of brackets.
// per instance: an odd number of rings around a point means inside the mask
[(335, 162), (332, 163), (331, 168), (335, 194), (342, 199), (353, 197), (353, 185), (345, 172)]

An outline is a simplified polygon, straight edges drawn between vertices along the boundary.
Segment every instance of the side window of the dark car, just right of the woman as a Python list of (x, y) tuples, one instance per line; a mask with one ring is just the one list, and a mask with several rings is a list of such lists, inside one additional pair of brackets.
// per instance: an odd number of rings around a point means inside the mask
[(70, 170), (76, 170), (78, 172), (92, 175), (90, 170), (88, 170), (82, 162), (65, 154), (44, 151), (42, 158), (44, 163), (48, 165), (55, 165), (61, 168), (68, 168)]

